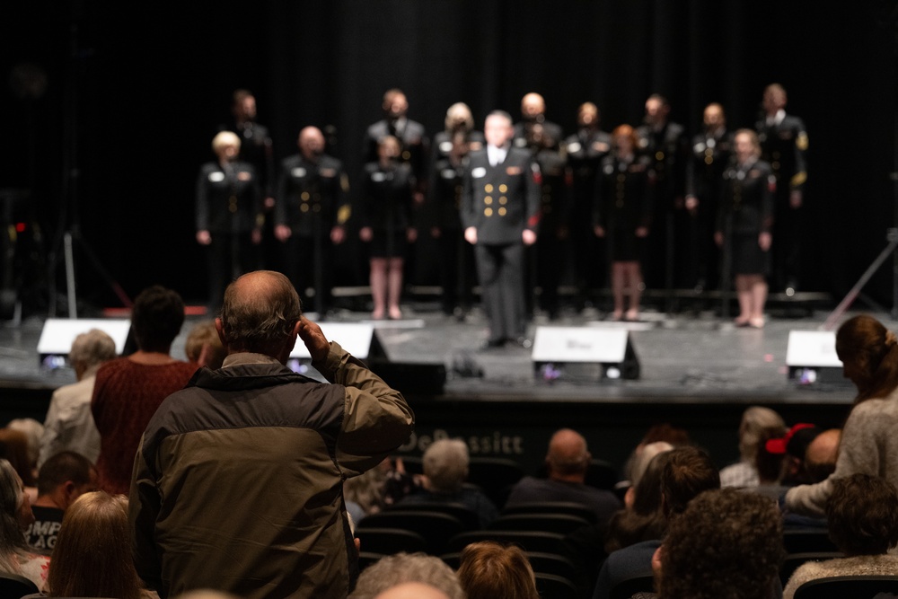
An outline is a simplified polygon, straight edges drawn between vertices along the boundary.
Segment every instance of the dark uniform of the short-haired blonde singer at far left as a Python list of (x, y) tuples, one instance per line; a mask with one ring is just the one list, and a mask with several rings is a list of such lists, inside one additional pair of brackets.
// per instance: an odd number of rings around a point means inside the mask
[(250, 163), (206, 163), (197, 178), (197, 231), (208, 231), (209, 305), (216, 310), (225, 286), (257, 268), (252, 232), (262, 223), (256, 171)]

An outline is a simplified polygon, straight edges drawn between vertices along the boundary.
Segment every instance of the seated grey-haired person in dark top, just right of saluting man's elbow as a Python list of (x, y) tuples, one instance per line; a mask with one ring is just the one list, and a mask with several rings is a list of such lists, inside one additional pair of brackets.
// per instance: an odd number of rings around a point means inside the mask
[(424, 452), (424, 489), (399, 503), (460, 503), (477, 512), (480, 527), (495, 520), (499, 511), (480, 489), (465, 487), (468, 445), (458, 439), (437, 439)]

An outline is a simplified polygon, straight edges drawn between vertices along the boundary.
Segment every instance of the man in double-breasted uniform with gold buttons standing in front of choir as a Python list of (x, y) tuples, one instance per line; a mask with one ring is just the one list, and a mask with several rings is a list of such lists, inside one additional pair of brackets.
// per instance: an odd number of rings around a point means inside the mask
[(539, 167), (524, 148), (511, 145), (511, 116), (489, 113), (487, 147), (471, 152), (464, 174), (464, 238), (474, 245), (477, 274), (489, 322), (487, 348), (506, 342), (530, 347), (525, 337), (524, 246), (536, 242)]

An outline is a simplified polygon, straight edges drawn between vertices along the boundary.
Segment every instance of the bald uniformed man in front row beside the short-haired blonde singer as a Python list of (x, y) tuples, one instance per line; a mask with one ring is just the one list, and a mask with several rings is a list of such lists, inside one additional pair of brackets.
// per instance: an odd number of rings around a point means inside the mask
[[(348, 178), (343, 164), (324, 154), (321, 129), (306, 127), (299, 133), (299, 154), (281, 163), (275, 204), (275, 236), (283, 244), (285, 274), (308, 303), (326, 313), (330, 299), (331, 244), (346, 239), (344, 225), (350, 214)], [(312, 279), (309, 269), (312, 265)], [(301, 277), (302, 276), (302, 277)]]

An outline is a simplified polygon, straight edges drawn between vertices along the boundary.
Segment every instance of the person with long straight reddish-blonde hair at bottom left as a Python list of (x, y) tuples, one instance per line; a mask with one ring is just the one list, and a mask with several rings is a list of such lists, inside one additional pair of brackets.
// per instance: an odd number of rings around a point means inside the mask
[(49, 597), (155, 597), (128, 547), (128, 498), (85, 493), (66, 510), (47, 576)]

